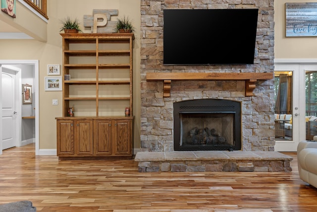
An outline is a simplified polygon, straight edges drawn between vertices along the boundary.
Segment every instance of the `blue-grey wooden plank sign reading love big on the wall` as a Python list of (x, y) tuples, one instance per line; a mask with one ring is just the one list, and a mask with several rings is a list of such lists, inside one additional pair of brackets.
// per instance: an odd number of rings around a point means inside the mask
[(317, 36), (317, 2), (285, 3), (286, 37)]

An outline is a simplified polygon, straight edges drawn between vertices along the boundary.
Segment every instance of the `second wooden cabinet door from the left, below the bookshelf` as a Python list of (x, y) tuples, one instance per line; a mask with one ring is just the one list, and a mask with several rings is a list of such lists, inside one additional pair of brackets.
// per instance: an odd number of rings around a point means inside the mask
[(75, 152), (77, 155), (93, 155), (93, 121), (75, 121)]

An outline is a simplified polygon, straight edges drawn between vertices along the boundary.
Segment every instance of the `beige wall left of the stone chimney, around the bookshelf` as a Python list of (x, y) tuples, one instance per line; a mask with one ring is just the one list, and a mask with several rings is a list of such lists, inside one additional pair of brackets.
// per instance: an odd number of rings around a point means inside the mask
[[(60, 19), (66, 16), (77, 17), (83, 23), (83, 15), (93, 14), (93, 9), (118, 9), (119, 17), (125, 15), (132, 19), (136, 27), (133, 69), (134, 69), (134, 115), (135, 148), (140, 147), (140, 0), (48, 0), (47, 42), (37, 40), (0, 40), (0, 60), (39, 60), (40, 90), (40, 150), (56, 149), (55, 117), (62, 116), (62, 92), (45, 91), (44, 77), (48, 64), (62, 65)], [(23, 16), (23, 10), (17, 10), (17, 16)], [(111, 20), (115, 20), (112, 18)], [(37, 23), (34, 26), (38, 25)], [(34, 27), (31, 26), (30, 28)], [(82, 26), (84, 29), (84, 27)], [(84, 32), (90, 32), (89, 30)], [(52, 105), (52, 99), (58, 99), (58, 105)]]

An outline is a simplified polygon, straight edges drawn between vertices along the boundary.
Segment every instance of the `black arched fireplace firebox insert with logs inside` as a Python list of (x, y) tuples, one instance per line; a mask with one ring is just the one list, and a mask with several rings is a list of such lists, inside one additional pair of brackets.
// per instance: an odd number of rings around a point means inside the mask
[(174, 103), (174, 150), (241, 150), (241, 102), (197, 99)]

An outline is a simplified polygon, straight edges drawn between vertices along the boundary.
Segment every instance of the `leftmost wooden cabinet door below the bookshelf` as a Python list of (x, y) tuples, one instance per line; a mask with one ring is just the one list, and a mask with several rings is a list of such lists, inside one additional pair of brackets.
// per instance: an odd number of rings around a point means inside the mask
[(74, 122), (57, 121), (57, 156), (74, 155)]

